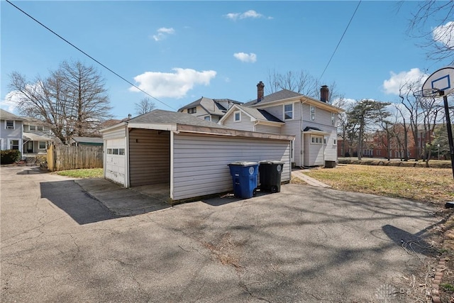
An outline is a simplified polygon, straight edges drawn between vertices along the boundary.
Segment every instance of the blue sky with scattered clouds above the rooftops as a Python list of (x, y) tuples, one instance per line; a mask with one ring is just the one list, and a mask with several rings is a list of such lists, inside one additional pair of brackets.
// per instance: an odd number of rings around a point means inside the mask
[[(319, 78), (358, 1), (13, 1), (53, 31), (176, 110), (200, 97), (250, 101), (270, 70)], [(322, 84), (348, 99), (397, 101), (399, 80), (443, 67), (406, 34), (418, 2), (362, 1)], [(63, 60), (94, 65), (112, 114), (135, 114), (146, 97), (1, 1), (2, 109), (9, 75), (45, 77)], [(434, 27), (436, 24), (427, 24)], [(265, 92), (266, 92), (265, 87)], [(168, 106), (166, 106), (167, 104)]]

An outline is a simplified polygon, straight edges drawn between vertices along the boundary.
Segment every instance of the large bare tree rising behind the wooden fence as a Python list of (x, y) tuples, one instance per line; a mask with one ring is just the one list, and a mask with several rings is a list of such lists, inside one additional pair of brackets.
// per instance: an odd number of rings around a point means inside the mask
[(104, 79), (82, 62), (64, 61), (48, 77), (36, 77), (33, 82), (18, 72), (10, 78), (9, 96), (16, 96), (21, 114), (52, 125), (52, 133), (62, 143), (92, 135), (99, 123), (111, 118)]

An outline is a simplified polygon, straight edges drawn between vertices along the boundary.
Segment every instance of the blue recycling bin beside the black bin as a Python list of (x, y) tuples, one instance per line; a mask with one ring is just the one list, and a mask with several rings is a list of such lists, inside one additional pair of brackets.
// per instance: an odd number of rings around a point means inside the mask
[(231, 162), (230, 174), (233, 180), (233, 194), (241, 199), (255, 196), (257, 189), (258, 162)]

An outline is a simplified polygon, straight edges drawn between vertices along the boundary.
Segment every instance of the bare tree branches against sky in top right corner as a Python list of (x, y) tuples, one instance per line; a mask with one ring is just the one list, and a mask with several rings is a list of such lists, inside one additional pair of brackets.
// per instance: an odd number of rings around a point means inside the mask
[[(399, 6), (405, 5), (400, 1)], [(433, 60), (454, 63), (454, 1), (420, 1), (410, 19), (408, 33), (423, 38), (421, 47)]]

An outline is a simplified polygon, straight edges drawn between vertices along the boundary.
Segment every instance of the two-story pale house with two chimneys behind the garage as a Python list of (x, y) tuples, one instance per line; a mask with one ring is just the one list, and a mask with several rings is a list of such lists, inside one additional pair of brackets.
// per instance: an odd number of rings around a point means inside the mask
[(329, 90), (321, 87), (321, 100), (288, 89), (264, 95), (257, 84), (257, 99), (234, 104), (219, 123), (228, 128), (294, 136), (292, 163), (299, 167), (337, 162), (337, 121), (343, 111), (326, 103)]

